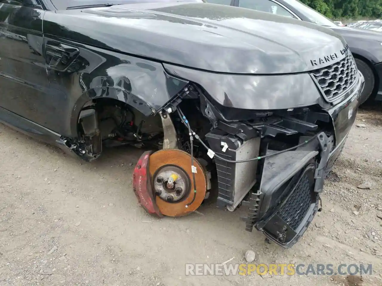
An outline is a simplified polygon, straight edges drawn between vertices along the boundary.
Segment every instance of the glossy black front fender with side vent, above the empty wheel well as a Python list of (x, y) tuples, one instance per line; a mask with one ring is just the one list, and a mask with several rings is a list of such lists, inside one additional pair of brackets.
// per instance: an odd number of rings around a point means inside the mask
[(165, 71), (162, 63), (104, 48), (44, 36), (51, 93), (61, 108), (54, 129), (64, 137), (77, 138), (81, 109), (99, 98), (112, 98), (155, 115), (188, 81)]

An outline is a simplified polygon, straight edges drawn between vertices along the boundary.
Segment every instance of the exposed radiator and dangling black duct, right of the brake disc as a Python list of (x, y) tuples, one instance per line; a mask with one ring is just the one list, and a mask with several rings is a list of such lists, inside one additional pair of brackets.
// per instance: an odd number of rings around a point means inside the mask
[[(335, 132), (327, 128), (329, 113), (278, 112), (284, 111), (270, 112), (259, 122), (218, 122), (205, 138), (216, 166), (217, 206), (247, 207), (242, 218), (247, 231), (256, 227), (291, 247), (319, 209)], [(313, 123), (314, 118), (322, 122)]]

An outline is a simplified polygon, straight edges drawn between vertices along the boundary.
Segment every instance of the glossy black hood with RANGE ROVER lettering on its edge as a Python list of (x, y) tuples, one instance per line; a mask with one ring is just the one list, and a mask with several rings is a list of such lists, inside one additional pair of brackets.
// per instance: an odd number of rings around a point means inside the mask
[[(306, 72), (342, 59), (346, 46), (343, 37), (325, 27), (207, 3), (130, 4), (46, 12), (44, 22), (47, 34), (223, 73)], [(62, 26), (59, 31), (52, 27), (57, 24)]]

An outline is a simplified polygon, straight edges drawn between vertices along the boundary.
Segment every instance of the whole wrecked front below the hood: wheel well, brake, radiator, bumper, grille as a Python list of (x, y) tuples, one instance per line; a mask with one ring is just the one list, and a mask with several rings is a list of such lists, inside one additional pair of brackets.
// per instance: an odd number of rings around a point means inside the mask
[(187, 215), (217, 190), (217, 207), (246, 208), (247, 231), (293, 246), (319, 211), (325, 177), (355, 120), (364, 79), (351, 55), (285, 75), (163, 69), (180, 92), (150, 105), (151, 116), (95, 98), (79, 113), (78, 137), (62, 138), (65, 145), (87, 161), (107, 146), (150, 149), (133, 173), (148, 213)]

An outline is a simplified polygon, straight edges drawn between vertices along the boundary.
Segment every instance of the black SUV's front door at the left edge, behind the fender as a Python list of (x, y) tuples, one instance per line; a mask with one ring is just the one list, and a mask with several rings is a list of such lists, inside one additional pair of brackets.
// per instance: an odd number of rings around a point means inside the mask
[[(43, 51), (42, 17), (37, 0), (0, 0), (0, 106), (53, 129), (49, 80)], [(15, 125), (14, 116), (2, 118)], [(11, 114), (11, 115), (10, 115)], [(16, 121), (16, 122), (17, 122)], [(16, 126), (18, 127), (18, 126)]]

